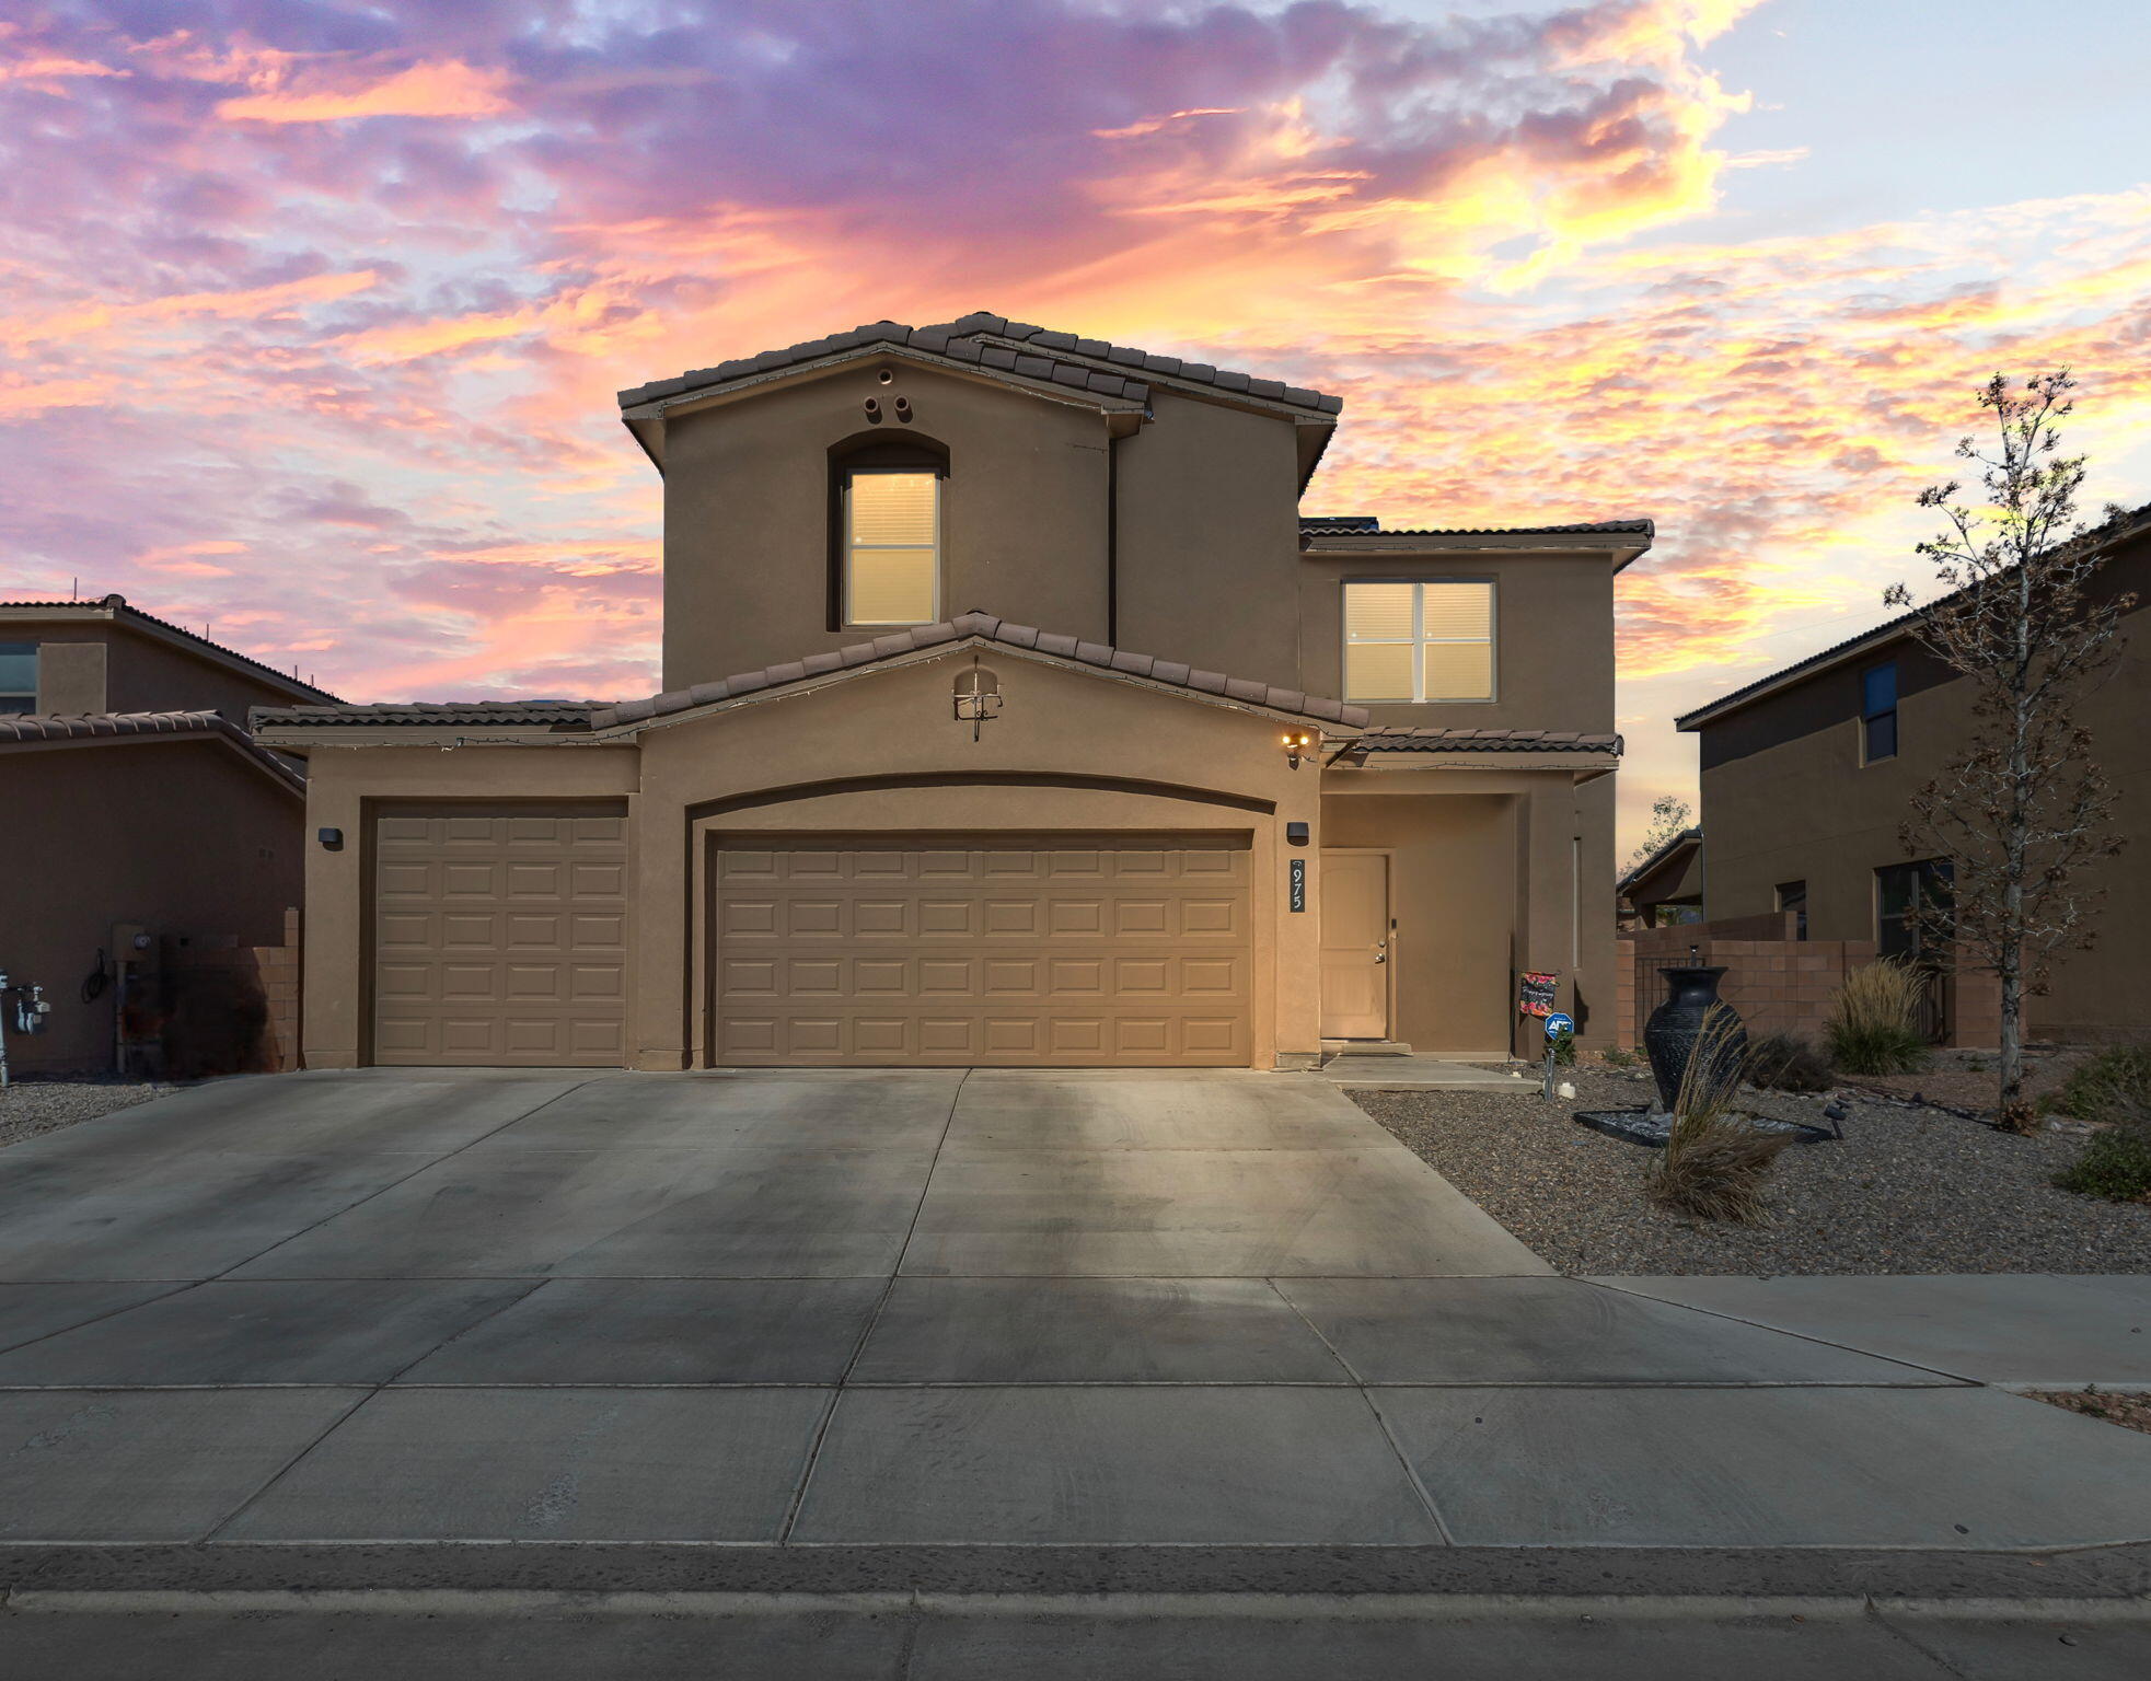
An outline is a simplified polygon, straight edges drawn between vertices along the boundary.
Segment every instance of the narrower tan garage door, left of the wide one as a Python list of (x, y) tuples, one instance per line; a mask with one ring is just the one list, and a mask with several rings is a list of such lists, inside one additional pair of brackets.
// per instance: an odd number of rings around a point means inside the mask
[(374, 823), (372, 1060), (617, 1068), (626, 808), (398, 808)]

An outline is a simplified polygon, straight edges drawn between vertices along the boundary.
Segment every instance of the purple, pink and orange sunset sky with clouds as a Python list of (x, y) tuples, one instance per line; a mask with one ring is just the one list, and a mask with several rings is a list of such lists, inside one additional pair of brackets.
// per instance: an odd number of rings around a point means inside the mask
[(346, 699), (654, 688), (613, 391), (884, 316), (1342, 393), (1310, 514), (1652, 516), (1628, 838), (1673, 714), (1923, 576), (1992, 370), (2151, 501), (2140, 0), (0, 15), (0, 595)]

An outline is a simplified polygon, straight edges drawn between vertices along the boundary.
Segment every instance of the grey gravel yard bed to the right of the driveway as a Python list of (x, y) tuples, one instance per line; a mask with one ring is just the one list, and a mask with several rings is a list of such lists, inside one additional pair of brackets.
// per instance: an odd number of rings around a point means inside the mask
[[(1484, 1090), (1347, 1092), (1562, 1273), (2151, 1273), (2151, 1206), (2056, 1191), (2084, 1139), (2011, 1137), (1940, 1109), (1846, 1101), (1843, 1141), (1779, 1156), (1770, 1217), (1712, 1225), (1643, 1197), (1656, 1152), (1577, 1109), (1650, 1098), (1650, 1077), (1564, 1068), (1577, 1098)], [(1744, 1107), (1820, 1122), (1824, 1098)]]

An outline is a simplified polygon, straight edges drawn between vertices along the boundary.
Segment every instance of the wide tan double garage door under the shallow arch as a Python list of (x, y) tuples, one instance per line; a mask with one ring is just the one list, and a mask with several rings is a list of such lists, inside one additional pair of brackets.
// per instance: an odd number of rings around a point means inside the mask
[(714, 1060), (1245, 1066), (1248, 881), (1209, 836), (725, 840)]

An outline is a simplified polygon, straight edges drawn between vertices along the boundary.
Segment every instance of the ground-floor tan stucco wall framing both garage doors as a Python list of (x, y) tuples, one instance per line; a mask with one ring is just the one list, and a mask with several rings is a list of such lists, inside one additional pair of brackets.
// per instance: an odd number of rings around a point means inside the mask
[(308, 851), (308, 1064), (351, 1066), (366, 1053), (364, 836), (374, 804), (602, 795), (630, 795), (635, 1066), (701, 1060), (701, 858), (710, 836), (731, 828), (1248, 834), (1256, 1064), (1312, 1055), (1319, 916), (1284, 909), (1282, 836), (1288, 821), (1310, 823), (1306, 856), (1314, 858), (1314, 761), (1293, 770), (1280, 720), (1267, 714), (1020, 656), (987, 664), (1007, 701), (979, 742), (951, 718), (951, 679), (970, 666), (964, 651), (647, 729), (630, 737), (639, 746), (316, 750), (308, 825), (342, 828), (346, 843)]

